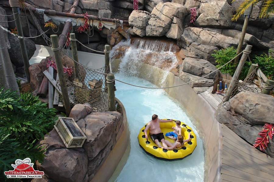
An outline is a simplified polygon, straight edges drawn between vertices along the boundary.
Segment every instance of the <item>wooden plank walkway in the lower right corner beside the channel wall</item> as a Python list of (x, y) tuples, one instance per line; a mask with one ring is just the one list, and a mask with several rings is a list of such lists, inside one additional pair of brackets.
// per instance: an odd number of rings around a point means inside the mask
[[(274, 159), (222, 124), (222, 182), (273, 182)], [(255, 140), (255, 139), (254, 139)]]

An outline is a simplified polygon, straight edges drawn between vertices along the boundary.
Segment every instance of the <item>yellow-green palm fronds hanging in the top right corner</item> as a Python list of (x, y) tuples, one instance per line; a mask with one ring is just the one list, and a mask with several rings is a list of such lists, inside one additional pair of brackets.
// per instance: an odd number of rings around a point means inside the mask
[[(234, 2), (233, 0), (232, 2)], [(269, 15), (274, 14), (274, 0), (244, 0), (239, 7), (236, 9), (236, 14), (233, 15), (232, 21), (237, 21), (237, 19), (244, 14), (244, 11), (249, 7), (262, 2), (262, 8), (259, 12), (260, 18), (268, 18)]]

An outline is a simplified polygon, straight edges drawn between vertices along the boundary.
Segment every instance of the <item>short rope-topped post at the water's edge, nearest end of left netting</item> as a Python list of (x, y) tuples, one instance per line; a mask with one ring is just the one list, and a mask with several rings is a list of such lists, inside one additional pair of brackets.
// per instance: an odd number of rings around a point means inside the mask
[(114, 74), (107, 73), (108, 109), (115, 111)]

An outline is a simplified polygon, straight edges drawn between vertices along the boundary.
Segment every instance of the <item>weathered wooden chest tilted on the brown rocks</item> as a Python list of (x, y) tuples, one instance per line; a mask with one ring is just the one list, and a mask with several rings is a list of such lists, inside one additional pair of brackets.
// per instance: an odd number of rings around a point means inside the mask
[(54, 128), (67, 148), (82, 147), (86, 140), (86, 135), (79, 128), (73, 118), (58, 117)]

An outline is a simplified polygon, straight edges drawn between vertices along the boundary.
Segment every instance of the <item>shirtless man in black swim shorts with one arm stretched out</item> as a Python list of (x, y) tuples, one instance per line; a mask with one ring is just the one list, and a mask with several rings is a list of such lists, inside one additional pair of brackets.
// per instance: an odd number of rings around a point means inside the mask
[(161, 133), (161, 128), (160, 128), (160, 122), (169, 122), (172, 120), (160, 120), (158, 119), (158, 116), (154, 114), (152, 116), (152, 120), (149, 121), (149, 123), (146, 125), (146, 128), (144, 130), (145, 133), (145, 138), (147, 139), (147, 130), (149, 129), (150, 137), (151, 139), (156, 143), (158, 147), (162, 147), (160, 141), (163, 144), (163, 147), (167, 147), (167, 144), (165, 143), (165, 137), (163, 136), (163, 133)]

